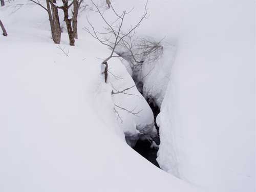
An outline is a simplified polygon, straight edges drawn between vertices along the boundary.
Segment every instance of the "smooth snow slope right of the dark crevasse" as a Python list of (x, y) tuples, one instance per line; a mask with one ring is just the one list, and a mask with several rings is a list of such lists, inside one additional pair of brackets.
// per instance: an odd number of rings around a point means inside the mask
[[(134, 22), (145, 4), (112, 2), (135, 7)], [(212, 191), (255, 191), (255, 1), (150, 1), (148, 13), (137, 35), (176, 48), (164, 46), (144, 79), (143, 92), (164, 100), (161, 168)]]

